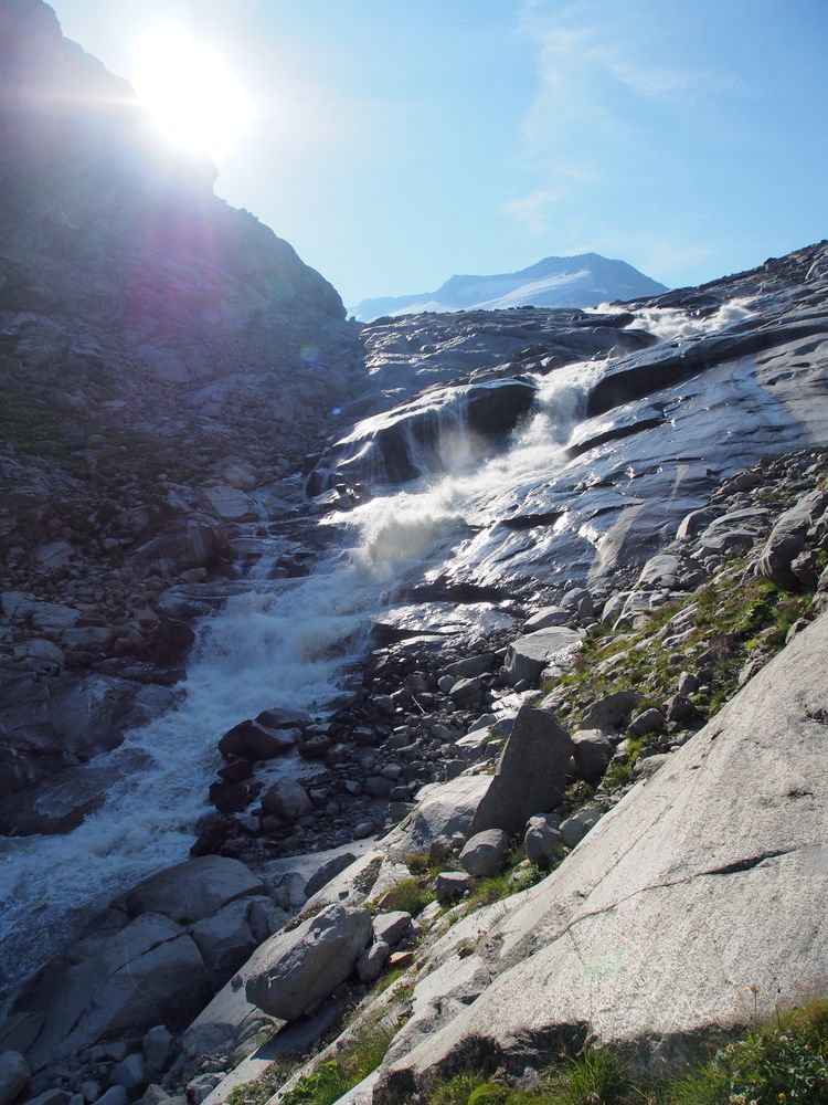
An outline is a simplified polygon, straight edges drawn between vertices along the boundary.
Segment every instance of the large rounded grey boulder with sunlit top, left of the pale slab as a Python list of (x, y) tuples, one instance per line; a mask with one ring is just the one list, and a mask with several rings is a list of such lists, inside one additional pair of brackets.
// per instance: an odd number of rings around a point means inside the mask
[(332, 905), (261, 949), (259, 970), (247, 978), (247, 1000), (290, 1021), (327, 998), (357, 966), (371, 939), (371, 914)]

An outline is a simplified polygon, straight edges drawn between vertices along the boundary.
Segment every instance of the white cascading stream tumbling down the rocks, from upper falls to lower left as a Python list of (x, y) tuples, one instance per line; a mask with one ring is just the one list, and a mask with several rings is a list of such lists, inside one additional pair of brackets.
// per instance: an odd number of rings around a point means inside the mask
[[(739, 305), (720, 323), (743, 314)], [(672, 335), (679, 322), (664, 325)], [(182, 704), (95, 761), (112, 767), (106, 803), (65, 835), (0, 841), (0, 969), (24, 977), (71, 940), (95, 906), (185, 859), (206, 809), (222, 733), (274, 706), (322, 713), (406, 572), (450, 556), (465, 523), (497, 519), (508, 496), (569, 463), (566, 442), (605, 364), (538, 377), (533, 413), (509, 448), (488, 460), (480, 460), (457, 412), (445, 418), (442, 444), (438, 434), (436, 450), (429, 446), (437, 474), (402, 491), (375, 488), (368, 504), (321, 519), (342, 530), (340, 551), (310, 576), (263, 578), (273, 567), (273, 558), (265, 559), (247, 589), (202, 623)], [(426, 463), (424, 454), (418, 460)], [(274, 544), (283, 548), (284, 539)], [(296, 759), (278, 766), (307, 770)]]

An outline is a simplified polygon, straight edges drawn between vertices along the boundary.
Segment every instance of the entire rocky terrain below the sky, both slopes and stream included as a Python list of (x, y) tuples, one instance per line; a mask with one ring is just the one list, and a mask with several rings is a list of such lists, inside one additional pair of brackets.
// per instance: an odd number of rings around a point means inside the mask
[(2, 20), (0, 1105), (506, 1094), (821, 992), (828, 245), (348, 325)]

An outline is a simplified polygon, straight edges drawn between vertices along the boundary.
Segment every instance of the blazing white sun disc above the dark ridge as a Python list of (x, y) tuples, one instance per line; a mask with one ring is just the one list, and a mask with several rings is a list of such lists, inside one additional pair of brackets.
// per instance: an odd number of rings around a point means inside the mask
[(170, 143), (211, 158), (235, 145), (253, 114), (221, 54), (173, 28), (153, 31), (136, 45), (135, 86)]

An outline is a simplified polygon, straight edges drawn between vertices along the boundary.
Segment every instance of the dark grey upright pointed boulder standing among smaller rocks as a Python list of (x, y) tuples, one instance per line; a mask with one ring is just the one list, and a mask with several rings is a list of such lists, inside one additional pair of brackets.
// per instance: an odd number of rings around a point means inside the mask
[(497, 772), (475, 811), (468, 835), (484, 829), (521, 832), (533, 813), (554, 809), (566, 786), (574, 745), (554, 714), (522, 706)]

